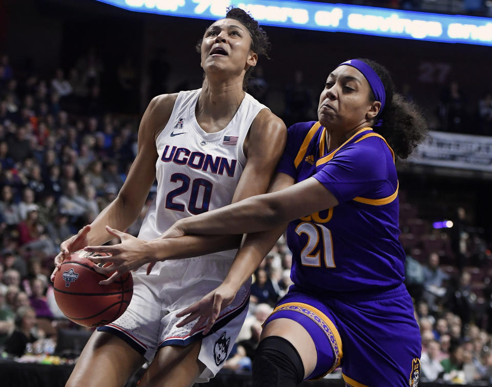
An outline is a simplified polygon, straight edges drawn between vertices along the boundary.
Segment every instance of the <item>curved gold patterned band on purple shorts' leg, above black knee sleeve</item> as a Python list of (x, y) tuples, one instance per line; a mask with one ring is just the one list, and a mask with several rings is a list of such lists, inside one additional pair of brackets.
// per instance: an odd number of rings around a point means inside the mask
[[(330, 318), (328, 318), (328, 316), (326, 316), (319, 309), (316, 309), (315, 307), (303, 302), (287, 302), (278, 305), (273, 310), (271, 315), (280, 311), (294, 311), (294, 312), (302, 313), (303, 315), (313, 320), (318, 325), (318, 327), (320, 327), (321, 330), (325, 333), (326, 337), (330, 341), (330, 344), (332, 345), (332, 350), (334, 355), (333, 365), (332, 368), (328, 372), (326, 372), (326, 374), (329, 374), (330, 372), (333, 372), (336, 368), (338, 368), (338, 366), (340, 365), (340, 361), (342, 360), (343, 357), (342, 339), (340, 338), (340, 334), (338, 333), (335, 324), (332, 322), (332, 320), (330, 320)], [(324, 377), (326, 374), (320, 376), (320, 378)]]

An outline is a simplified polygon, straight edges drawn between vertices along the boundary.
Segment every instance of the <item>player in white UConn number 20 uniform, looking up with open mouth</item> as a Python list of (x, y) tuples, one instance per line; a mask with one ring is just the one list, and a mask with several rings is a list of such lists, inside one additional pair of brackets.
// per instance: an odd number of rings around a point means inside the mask
[[(172, 32), (170, 31), (170, 34)], [(178, 41), (178, 39), (176, 39)], [(137, 244), (156, 255), (152, 240), (182, 218), (267, 191), (282, 154), (282, 120), (243, 91), (245, 75), (269, 46), (253, 18), (239, 8), (212, 24), (201, 41), (202, 88), (155, 97), (138, 133), (138, 153), (118, 197), (79, 233), (61, 244), (56, 268), (72, 252), (102, 245), (137, 218), (155, 178), (157, 194)], [(111, 228), (105, 228), (110, 226)], [(136, 238), (135, 238), (136, 239)], [(168, 239), (150, 275), (133, 274), (127, 311), (99, 327), (67, 386), (122, 386), (146, 361), (139, 387), (191, 386), (223, 365), (248, 309), (249, 283), (224, 310), (213, 332), (190, 336), (176, 314), (217, 288), (241, 236)], [(162, 240), (160, 241), (162, 246)], [(208, 247), (206, 256), (195, 257)], [(220, 253), (215, 253), (220, 252)], [(141, 252), (139, 252), (141, 254)]]

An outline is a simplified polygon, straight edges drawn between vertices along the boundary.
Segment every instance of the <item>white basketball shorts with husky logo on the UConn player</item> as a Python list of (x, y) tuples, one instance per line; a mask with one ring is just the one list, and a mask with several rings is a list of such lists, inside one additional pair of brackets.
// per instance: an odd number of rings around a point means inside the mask
[(133, 273), (133, 297), (125, 313), (97, 330), (112, 333), (152, 361), (165, 345), (188, 345), (201, 340), (198, 360), (206, 369), (196, 382), (206, 382), (222, 368), (248, 313), (251, 281), (237, 292), (234, 301), (220, 312), (212, 330), (204, 327), (190, 336), (195, 324), (176, 328), (176, 314), (217, 288), (229, 272), (232, 258), (207, 255), (199, 258), (158, 262), (147, 276), (146, 268)]

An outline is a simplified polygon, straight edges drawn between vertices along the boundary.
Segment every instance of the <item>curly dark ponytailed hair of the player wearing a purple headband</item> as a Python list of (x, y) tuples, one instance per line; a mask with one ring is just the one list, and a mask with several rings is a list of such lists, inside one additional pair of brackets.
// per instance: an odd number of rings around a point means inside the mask
[[(422, 142), (427, 132), (427, 122), (420, 109), (395, 92), (395, 85), (388, 70), (374, 60), (358, 58), (378, 74), (384, 85), (386, 102), (383, 111), (377, 117), (382, 120), (381, 126), (374, 131), (381, 134), (399, 158), (407, 158), (414, 148)], [(375, 97), (370, 91), (370, 100)]]

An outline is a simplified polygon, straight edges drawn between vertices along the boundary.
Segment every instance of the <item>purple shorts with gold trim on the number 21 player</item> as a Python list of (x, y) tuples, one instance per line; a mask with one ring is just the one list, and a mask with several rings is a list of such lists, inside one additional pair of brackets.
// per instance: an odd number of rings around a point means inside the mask
[(417, 386), (420, 330), (404, 284), (380, 293), (323, 297), (293, 285), (264, 324), (277, 318), (298, 322), (313, 338), (317, 363), (307, 379), (341, 365), (348, 386)]

